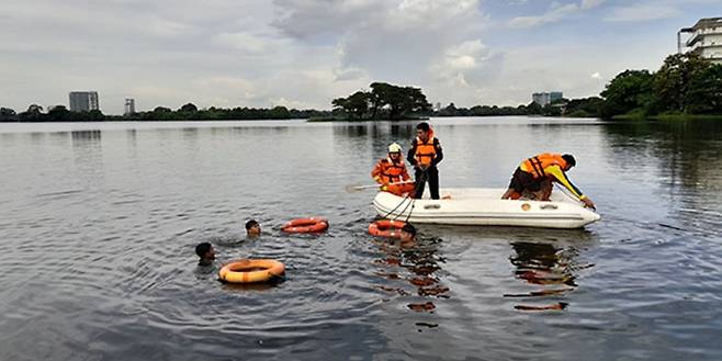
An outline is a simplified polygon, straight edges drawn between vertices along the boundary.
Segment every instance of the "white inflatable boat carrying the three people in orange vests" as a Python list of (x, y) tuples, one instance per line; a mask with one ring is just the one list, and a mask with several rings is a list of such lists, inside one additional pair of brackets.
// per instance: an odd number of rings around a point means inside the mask
[(373, 207), (380, 216), (410, 223), (478, 226), (521, 226), (580, 228), (599, 221), (599, 214), (585, 208), (569, 195), (554, 190), (550, 202), (501, 200), (505, 189), (441, 189), (448, 200), (411, 200), (379, 192)]

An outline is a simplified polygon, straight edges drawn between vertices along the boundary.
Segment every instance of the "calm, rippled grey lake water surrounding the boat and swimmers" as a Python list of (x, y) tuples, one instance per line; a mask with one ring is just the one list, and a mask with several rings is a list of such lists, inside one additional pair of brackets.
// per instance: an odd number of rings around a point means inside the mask
[[(411, 122), (0, 124), (0, 360), (722, 359), (722, 123), (431, 124), (441, 188), (571, 153), (602, 219), (374, 239), (345, 187)], [(326, 234), (279, 230), (312, 215)], [(201, 241), (285, 281), (222, 284)]]

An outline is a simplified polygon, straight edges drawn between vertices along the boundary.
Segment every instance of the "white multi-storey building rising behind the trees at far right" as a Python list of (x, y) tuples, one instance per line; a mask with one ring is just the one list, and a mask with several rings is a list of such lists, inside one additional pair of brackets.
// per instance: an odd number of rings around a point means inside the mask
[[(684, 46), (681, 34), (689, 34)], [(678, 31), (677, 52), (698, 52), (703, 58), (722, 64), (722, 18), (700, 19), (695, 26)]]

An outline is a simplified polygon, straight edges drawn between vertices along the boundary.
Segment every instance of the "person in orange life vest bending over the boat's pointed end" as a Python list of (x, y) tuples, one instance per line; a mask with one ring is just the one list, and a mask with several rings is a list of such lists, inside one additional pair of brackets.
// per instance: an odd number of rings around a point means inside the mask
[(552, 182), (557, 182), (579, 199), (584, 205), (596, 210), (594, 202), (582, 194), (582, 191), (566, 178), (565, 172), (574, 166), (576, 166), (576, 160), (572, 155), (543, 153), (529, 158), (522, 161), (514, 172), (509, 189), (501, 195), (501, 199), (518, 200), (523, 195), (535, 201), (549, 201), (552, 195)]

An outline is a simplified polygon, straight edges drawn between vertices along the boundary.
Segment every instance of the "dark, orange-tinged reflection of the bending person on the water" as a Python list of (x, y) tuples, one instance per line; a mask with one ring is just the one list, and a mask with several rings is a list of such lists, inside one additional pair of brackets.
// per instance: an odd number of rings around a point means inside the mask
[[(511, 264), (517, 269), (515, 277), (529, 284), (534, 285), (535, 291), (522, 294), (505, 294), (505, 297), (550, 297), (559, 298), (561, 295), (573, 291), (577, 272), (590, 268), (594, 264), (579, 264), (575, 258), (579, 255), (575, 247), (557, 247), (552, 244), (539, 244), (516, 241), (511, 244), (516, 255), (509, 257)], [(539, 286), (539, 287), (537, 287)], [(544, 311), (564, 309), (567, 302), (557, 301), (544, 305), (518, 304), (516, 309), (520, 311)]]

